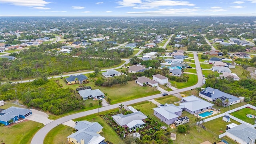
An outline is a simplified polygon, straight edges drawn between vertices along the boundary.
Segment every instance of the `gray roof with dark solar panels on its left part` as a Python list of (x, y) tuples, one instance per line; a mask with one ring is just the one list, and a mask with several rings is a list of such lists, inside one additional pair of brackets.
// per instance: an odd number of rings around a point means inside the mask
[[(213, 92), (214, 92), (214, 94), (212, 94)], [(205, 90), (200, 92), (200, 94), (208, 96), (208, 97), (210, 97), (212, 99), (216, 99), (216, 98), (220, 98), (220, 97), (225, 97), (225, 98), (228, 99), (229, 102), (234, 102), (236, 100), (240, 100), (236, 96), (232, 96), (231, 94), (227, 94), (225, 92), (222, 92), (222, 91), (220, 91), (218, 89), (214, 89), (214, 88), (211, 88), (211, 87), (205, 88)]]

